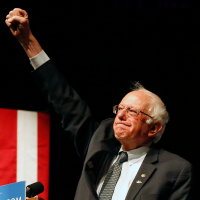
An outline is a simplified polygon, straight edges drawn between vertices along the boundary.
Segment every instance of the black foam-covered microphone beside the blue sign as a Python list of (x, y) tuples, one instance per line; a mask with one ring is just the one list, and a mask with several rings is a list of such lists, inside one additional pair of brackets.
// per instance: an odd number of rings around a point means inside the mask
[(35, 182), (26, 186), (26, 197), (34, 197), (44, 191), (44, 185), (40, 182)]

